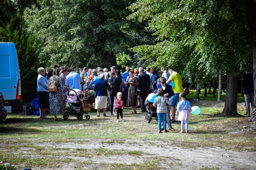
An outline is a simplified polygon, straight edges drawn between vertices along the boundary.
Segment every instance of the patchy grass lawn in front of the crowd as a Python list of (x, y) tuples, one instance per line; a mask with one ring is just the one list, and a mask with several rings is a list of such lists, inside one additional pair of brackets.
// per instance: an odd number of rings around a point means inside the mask
[[(191, 95), (193, 96), (193, 91), (189, 97)], [(200, 98), (203, 99), (201, 96)], [(154, 152), (139, 148), (147, 144), (149, 147), (167, 149), (166, 144), (170, 144), (177, 149), (221, 148), (239, 152), (256, 151), (256, 124), (247, 121), (248, 118), (243, 115), (243, 105), (238, 104), (237, 117), (218, 116), (224, 103), (209, 100), (191, 101), (191, 106), (194, 105), (201, 108), (201, 113), (198, 116), (191, 115), (188, 134), (179, 133), (180, 124), (172, 124), (174, 132), (159, 134), (156, 120), (147, 123), (143, 113), (128, 114), (131, 108), (124, 109), (126, 121), (119, 123), (116, 122), (116, 116), (103, 117), (101, 113), (101, 116), (97, 117), (96, 112), (89, 112), (91, 118), (82, 121), (75, 117), (63, 120), (61, 115), (58, 115), (57, 122), (53, 120), (53, 116), (45, 120), (39, 116), (8, 114), (7, 121), (0, 124), (0, 161), (21, 169), (31, 167), (33, 170), (70, 167), (184, 169), (181, 168), (182, 163), (179, 164), (178, 158), (168, 155), (160, 158), (155, 156)], [(119, 160), (145, 157), (146, 159), (139, 163), (122, 163)], [(176, 163), (172, 164), (167, 160)], [(221, 169), (221, 165), (200, 168), (195, 166), (190, 169), (219, 168)]]

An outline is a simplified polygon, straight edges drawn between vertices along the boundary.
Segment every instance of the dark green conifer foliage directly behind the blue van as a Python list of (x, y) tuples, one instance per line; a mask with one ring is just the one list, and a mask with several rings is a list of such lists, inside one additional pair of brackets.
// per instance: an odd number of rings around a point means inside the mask
[[(0, 6), (3, 9), (3, 6)], [(5, 7), (7, 8), (7, 7)], [(8, 8), (13, 8), (9, 6)], [(0, 39), (2, 42), (14, 42), (17, 50), (21, 95), (23, 101), (30, 102), (36, 97), (37, 89), (37, 46), (26, 30), (26, 24), (19, 13), (5, 13), (5, 21), (0, 21)]]

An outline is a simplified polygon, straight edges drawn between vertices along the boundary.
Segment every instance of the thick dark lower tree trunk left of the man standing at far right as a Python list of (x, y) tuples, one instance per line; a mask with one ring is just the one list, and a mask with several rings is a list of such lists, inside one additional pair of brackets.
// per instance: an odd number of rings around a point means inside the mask
[(238, 78), (235, 77), (232, 70), (227, 72), (227, 90), (225, 106), (222, 111), (224, 116), (236, 116), (237, 113), (237, 83)]

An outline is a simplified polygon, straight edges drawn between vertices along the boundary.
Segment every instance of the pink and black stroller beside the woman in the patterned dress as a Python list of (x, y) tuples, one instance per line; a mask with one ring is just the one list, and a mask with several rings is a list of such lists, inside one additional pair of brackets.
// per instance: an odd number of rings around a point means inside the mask
[[(84, 114), (86, 119), (90, 119), (90, 116), (84, 111), (83, 101), (85, 94), (79, 89), (70, 89), (67, 90), (67, 92), (66, 102), (69, 103), (69, 108), (68, 111), (63, 114), (63, 119), (67, 120), (69, 116), (74, 116), (77, 120), (82, 120)], [(76, 107), (80, 107), (80, 111), (77, 111)]]

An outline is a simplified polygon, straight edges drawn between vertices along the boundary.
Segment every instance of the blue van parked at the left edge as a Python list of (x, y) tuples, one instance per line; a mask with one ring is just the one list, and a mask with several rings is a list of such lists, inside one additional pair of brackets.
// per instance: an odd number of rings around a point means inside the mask
[(21, 113), (21, 82), (18, 56), (14, 43), (0, 42), (0, 91), (7, 113)]

